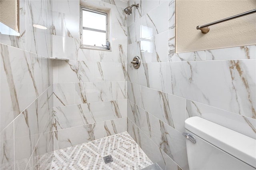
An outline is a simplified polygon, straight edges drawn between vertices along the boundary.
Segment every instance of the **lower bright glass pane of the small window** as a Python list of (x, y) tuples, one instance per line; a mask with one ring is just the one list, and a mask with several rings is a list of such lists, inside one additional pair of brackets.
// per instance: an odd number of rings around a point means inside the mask
[(83, 44), (102, 47), (102, 44), (106, 45), (106, 33), (83, 30)]

